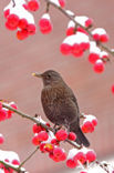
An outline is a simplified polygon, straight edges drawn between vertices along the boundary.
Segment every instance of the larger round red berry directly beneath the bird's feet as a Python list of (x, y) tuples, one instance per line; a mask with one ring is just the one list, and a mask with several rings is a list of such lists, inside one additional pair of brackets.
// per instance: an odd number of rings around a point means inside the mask
[(65, 130), (59, 130), (56, 133), (55, 133), (55, 138), (59, 140), (59, 141), (64, 141), (66, 140), (68, 138), (68, 133)]

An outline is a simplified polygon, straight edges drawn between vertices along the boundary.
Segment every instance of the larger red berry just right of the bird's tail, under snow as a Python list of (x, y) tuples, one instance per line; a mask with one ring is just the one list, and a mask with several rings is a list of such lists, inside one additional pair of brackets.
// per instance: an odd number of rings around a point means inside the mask
[(90, 121), (85, 121), (82, 125), (83, 133), (92, 133), (94, 131), (94, 125)]

